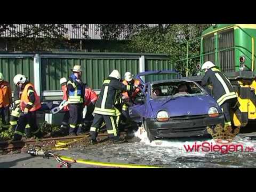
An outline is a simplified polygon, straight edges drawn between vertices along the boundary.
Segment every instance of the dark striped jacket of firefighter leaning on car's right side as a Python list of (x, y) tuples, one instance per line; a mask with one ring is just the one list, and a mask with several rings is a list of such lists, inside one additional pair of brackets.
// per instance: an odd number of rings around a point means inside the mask
[(233, 98), (237, 98), (235, 90), (231, 85), (229, 79), (221, 73), (221, 71), (215, 67), (207, 70), (203, 79), (202, 86), (213, 86), (213, 98), (221, 106), (225, 101)]

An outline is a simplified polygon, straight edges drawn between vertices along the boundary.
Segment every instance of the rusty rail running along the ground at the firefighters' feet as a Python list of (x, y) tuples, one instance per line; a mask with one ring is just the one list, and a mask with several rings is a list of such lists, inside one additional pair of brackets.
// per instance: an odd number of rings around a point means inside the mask
[[(123, 135), (126, 132), (121, 132), (120, 134)], [(107, 137), (107, 133), (99, 133), (98, 137)], [(31, 140), (21, 140), (21, 141), (4, 141), (0, 142), (0, 150), (14, 150), (14, 149), (21, 149), (26, 145), (40, 145), (40, 143), (52, 143), (54, 145), (54, 141), (68, 141), (68, 140), (79, 140), (89, 137), (89, 134), (83, 134), (79, 136), (73, 137), (56, 137), (56, 138), (42, 138), (42, 139), (31, 139)]]

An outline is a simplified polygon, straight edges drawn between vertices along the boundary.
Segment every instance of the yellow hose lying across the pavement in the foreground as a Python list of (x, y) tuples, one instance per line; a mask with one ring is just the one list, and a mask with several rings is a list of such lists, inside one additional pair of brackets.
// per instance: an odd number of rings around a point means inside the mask
[[(74, 162), (74, 158), (67, 156), (59, 156), (64, 161)], [(105, 162), (96, 162), (85, 159), (76, 159), (76, 163), (82, 163), (86, 165), (94, 165), (94, 166), (105, 166), (105, 167), (119, 167), (119, 168), (161, 168), (157, 166), (150, 165), (136, 165), (136, 164), (123, 164), (123, 163), (105, 163)]]

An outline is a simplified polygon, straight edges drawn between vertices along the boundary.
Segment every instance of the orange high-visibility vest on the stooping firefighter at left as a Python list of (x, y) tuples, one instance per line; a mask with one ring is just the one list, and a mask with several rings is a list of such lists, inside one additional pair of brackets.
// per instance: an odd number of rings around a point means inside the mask
[(29, 102), (29, 98), (28, 98), (28, 88), (29, 87), (32, 87), (33, 90), (34, 90), (34, 94), (35, 94), (35, 103), (34, 103), (34, 106), (29, 109), (29, 111), (36, 111), (38, 110), (39, 108), (41, 108), (41, 102), (40, 102), (40, 98), (39, 96), (37, 95), (36, 91), (35, 91), (35, 87), (33, 84), (31, 83), (28, 83), (27, 85), (25, 85), (23, 91), (22, 91), (22, 94), (21, 94), (21, 98), (20, 98), (20, 109), (22, 111), (24, 111), (24, 109), (26, 108), (28, 102)]

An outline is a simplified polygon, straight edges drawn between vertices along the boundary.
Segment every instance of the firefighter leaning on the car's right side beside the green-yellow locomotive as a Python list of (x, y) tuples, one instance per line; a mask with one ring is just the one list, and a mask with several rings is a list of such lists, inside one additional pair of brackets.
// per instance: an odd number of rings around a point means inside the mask
[(228, 78), (221, 73), (219, 69), (211, 62), (206, 61), (202, 70), (205, 71), (205, 75), (202, 79), (202, 86), (211, 85), (212, 96), (217, 101), (218, 105), (222, 108), (225, 116), (225, 127), (231, 126), (230, 111), (235, 107), (237, 103), (237, 95), (233, 86)]

